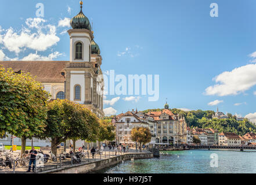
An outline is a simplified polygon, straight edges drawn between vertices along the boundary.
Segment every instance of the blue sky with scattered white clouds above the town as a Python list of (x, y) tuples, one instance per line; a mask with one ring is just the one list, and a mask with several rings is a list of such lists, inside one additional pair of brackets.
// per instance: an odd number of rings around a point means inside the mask
[[(218, 17), (210, 16), (211, 3)], [(255, 7), (254, 0), (84, 1), (105, 75), (159, 75), (157, 101), (106, 95), (106, 115), (163, 108), (167, 99), (170, 108), (218, 106), (256, 122)], [(68, 61), (66, 31), (79, 12), (77, 0), (2, 1), (0, 60)]]

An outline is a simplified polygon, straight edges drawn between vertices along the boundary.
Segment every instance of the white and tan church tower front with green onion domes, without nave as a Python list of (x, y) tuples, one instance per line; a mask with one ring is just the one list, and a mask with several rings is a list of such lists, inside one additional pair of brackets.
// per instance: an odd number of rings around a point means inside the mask
[(103, 117), (102, 57), (100, 49), (93, 40), (89, 19), (82, 12), (70, 21), (70, 61), (66, 62), (66, 98), (85, 105), (86, 108)]

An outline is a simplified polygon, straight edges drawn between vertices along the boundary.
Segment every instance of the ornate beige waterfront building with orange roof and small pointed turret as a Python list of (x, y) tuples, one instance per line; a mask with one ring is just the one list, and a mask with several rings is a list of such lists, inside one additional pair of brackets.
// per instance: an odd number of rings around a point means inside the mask
[(146, 114), (157, 122), (157, 145), (180, 145), (186, 143), (187, 124), (185, 117), (172, 113), (167, 102), (162, 111), (148, 112)]

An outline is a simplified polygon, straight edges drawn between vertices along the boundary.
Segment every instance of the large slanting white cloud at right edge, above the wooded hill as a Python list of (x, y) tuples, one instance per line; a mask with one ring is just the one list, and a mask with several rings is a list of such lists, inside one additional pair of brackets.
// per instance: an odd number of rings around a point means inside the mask
[(214, 78), (214, 86), (205, 89), (206, 95), (237, 95), (256, 84), (256, 64), (248, 64), (226, 71)]

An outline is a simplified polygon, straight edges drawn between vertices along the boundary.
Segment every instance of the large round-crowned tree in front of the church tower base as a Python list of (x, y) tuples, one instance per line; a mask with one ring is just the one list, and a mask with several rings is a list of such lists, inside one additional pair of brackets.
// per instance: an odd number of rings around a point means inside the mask
[(84, 106), (57, 99), (48, 103), (48, 119), (45, 137), (51, 138), (52, 153), (56, 147), (67, 139), (88, 139), (93, 132), (92, 124), (97, 126), (98, 118)]

